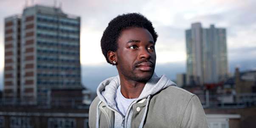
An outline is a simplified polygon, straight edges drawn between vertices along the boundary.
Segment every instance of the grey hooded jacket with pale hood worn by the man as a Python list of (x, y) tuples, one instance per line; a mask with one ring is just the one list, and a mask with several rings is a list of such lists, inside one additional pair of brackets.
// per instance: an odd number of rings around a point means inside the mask
[[(89, 110), (90, 128), (114, 128), (118, 76), (101, 82)], [(120, 128), (208, 128), (198, 97), (155, 74), (128, 108)]]

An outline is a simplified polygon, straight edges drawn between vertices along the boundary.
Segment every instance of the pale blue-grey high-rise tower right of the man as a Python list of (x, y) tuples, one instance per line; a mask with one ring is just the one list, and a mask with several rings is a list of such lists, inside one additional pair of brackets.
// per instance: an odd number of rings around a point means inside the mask
[(218, 83), (228, 75), (225, 28), (202, 28), (194, 23), (186, 30), (187, 83)]

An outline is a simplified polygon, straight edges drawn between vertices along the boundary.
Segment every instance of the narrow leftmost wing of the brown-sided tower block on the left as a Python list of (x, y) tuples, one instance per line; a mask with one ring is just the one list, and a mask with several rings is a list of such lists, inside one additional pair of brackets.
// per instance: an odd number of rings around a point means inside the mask
[(20, 16), (5, 19), (4, 97), (20, 98)]

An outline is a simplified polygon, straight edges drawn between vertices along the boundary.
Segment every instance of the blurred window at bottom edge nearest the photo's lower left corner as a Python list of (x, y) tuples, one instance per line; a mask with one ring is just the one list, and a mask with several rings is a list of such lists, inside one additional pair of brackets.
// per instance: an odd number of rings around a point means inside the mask
[(33, 128), (29, 117), (11, 117), (10, 128)]

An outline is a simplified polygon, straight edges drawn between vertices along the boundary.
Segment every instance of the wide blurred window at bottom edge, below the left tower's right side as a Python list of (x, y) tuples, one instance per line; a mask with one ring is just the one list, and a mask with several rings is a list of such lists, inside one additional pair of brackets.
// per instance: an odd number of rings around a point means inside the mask
[(76, 128), (76, 120), (73, 118), (49, 118), (48, 128)]

